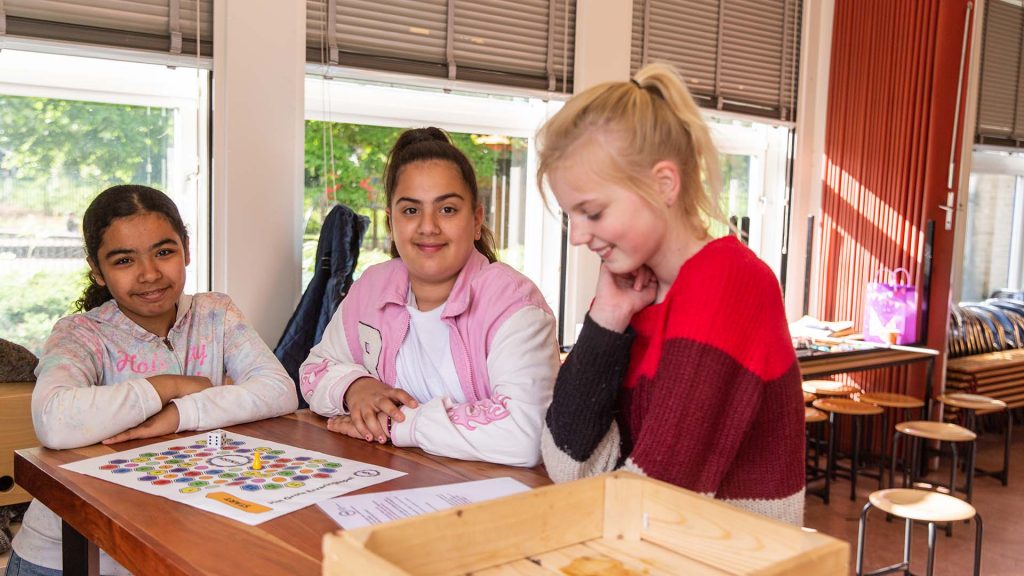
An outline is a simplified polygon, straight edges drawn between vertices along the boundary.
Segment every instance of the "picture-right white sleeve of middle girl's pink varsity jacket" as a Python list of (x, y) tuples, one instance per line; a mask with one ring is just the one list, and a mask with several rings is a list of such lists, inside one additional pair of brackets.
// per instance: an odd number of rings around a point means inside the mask
[(555, 319), (526, 306), (509, 317), (492, 341), (490, 398), (465, 404), (436, 398), (419, 408), (403, 407), (406, 420), (392, 423), (391, 441), (452, 458), (537, 465), (557, 373)]

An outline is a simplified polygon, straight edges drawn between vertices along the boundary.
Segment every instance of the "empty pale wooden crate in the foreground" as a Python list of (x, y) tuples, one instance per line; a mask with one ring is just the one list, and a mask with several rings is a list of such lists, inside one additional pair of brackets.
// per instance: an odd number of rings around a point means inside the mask
[(324, 537), (324, 574), (847, 574), (849, 544), (614, 472)]

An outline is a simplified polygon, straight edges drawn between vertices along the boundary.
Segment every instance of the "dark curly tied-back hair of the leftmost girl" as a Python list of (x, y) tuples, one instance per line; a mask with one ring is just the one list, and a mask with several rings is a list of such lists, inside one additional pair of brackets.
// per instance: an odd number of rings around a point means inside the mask
[[(188, 231), (178, 213), (178, 207), (174, 205), (166, 194), (159, 190), (140, 184), (121, 184), (109, 188), (99, 193), (99, 196), (92, 200), (85, 210), (82, 218), (82, 236), (85, 237), (85, 253), (92, 263), (99, 268), (99, 245), (103, 241), (103, 234), (111, 227), (116, 218), (125, 218), (153, 212), (161, 214), (170, 222), (174, 232), (178, 233), (181, 245), (188, 247)], [(90, 271), (87, 279), (87, 286), (82, 297), (75, 302), (75, 312), (90, 311), (114, 296), (105, 286), (96, 284), (93, 273)]]

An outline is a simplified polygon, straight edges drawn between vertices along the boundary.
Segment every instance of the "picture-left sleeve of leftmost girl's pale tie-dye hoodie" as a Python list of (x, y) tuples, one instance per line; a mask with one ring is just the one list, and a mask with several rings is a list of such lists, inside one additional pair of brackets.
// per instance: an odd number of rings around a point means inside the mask
[(32, 421), (43, 446), (89, 446), (137, 426), (164, 407), (145, 378), (99, 385), (102, 351), (99, 335), (71, 318), (53, 327), (32, 390)]

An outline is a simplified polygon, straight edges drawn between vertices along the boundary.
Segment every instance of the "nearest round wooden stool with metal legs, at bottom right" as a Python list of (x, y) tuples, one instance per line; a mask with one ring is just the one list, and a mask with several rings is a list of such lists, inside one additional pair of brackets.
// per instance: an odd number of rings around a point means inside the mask
[(910, 528), (913, 521), (928, 523), (928, 576), (931, 576), (935, 565), (935, 524), (968, 521), (975, 523), (974, 540), (974, 574), (981, 574), (981, 516), (974, 506), (946, 494), (930, 490), (911, 490), (895, 488), (871, 492), (867, 503), (860, 512), (860, 526), (857, 530), (857, 576), (864, 575), (864, 532), (867, 529), (867, 511), (872, 507), (905, 520), (903, 532), (903, 562), (868, 572), (867, 575), (887, 574), (902, 571), (910, 573)]

